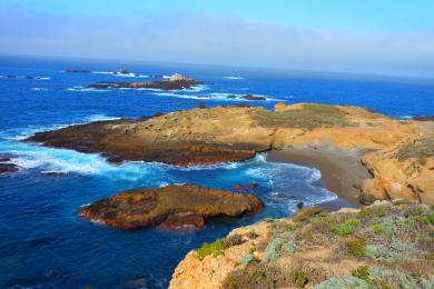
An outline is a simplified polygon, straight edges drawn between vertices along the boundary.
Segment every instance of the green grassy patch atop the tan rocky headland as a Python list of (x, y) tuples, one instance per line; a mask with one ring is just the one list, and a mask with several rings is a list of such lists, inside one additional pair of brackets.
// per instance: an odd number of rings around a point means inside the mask
[(319, 127), (348, 127), (353, 124), (337, 107), (318, 103), (306, 103), (300, 109), (286, 111), (263, 111), (256, 117), (259, 124), (264, 127), (313, 130)]

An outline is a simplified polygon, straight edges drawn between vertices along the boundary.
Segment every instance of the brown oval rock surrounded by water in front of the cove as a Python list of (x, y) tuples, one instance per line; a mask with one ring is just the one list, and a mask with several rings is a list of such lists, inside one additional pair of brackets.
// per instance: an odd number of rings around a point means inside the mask
[(156, 225), (203, 227), (207, 218), (239, 217), (256, 213), (262, 208), (263, 202), (253, 195), (170, 185), (119, 192), (81, 207), (78, 213), (96, 222), (130, 230)]

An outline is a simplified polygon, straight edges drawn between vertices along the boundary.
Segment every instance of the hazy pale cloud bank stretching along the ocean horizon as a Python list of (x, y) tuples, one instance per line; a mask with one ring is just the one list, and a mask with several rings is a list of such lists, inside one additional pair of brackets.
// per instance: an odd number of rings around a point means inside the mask
[(434, 76), (434, 32), (349, 33), (228, 14), (57, 17), (0, 9), (0, 52)]

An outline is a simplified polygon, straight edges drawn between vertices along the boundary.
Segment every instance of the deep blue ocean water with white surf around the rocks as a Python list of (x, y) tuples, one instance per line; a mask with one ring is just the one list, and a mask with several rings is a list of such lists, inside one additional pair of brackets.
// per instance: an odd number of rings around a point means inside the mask
[[(120, 64), (142, 77), (103, 73)], [(62, 72), (67, 67), (101, 73)], [(150, 80), (145, 77), (148, 74), (174, 72), (206, 84), (175, 92), (85, 88), (97, 81), (146, 81)], [(227, 99), (231, 93), (255, 93), (267, 100)], [(144, 162), (110, 165), (98, 155), (20, 142), (36, 131), (189, 109), (201, 102), (207, 107), (243, 102), (269, 109), (276, 101), (355, 104), (405, 119), (434, 114), (434, 81), (0, 57), (0, 155), (10, 156), (20, 167), (19, 172), (0, 176), (0, 288), (127, 288), (134, 280), (146, 280), (148, 288), (167, 287), (176, 265), (203, 242), (265, 217), (288, 216), (298, 201), (313, 205), (335, 199), (320, 183), (315, 168), (268, 163), (265, 156), (238, 163), (179, 169)], [(47, 172), (59, 175), (50, 177)], [(235, 183), (257, 182), (255, 193), (266, 208), (238, 220), (210, 220), (196, 231), (149, 228), (126, 232), (76, 215), (80, 206), (120, 190), (184, 182), (225, 190), (233, 190)], [(276, 201), (278, 193), (287, 198)]]

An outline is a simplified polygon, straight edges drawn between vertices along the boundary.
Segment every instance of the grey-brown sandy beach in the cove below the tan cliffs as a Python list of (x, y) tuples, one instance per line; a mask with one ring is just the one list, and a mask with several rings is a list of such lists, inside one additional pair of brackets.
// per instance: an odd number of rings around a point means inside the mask
[(323, 202), (319, 206), (326, 210), (337, 210), (342, 207), (361, 207), (357, 196), (359, 183), (372, 176), (362, 165), (364, 150), (336, 149), (326, 146), (286, 148), (267, 152), (267, 161), (296, 163), (314, 167), (320, 171), (320, 179), (327, 190), (338, 198)]

